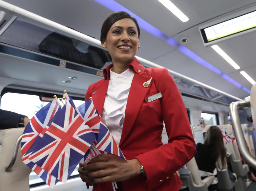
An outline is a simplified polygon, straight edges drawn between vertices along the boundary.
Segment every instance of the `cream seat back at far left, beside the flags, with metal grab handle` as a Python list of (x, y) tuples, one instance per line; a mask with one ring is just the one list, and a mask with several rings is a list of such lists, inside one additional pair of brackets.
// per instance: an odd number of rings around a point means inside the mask
[(13, 167), (5, 172), (13, 156), (13, 150), (17, 138), (23, 134), (24, 128), (0, 130), (0, 191), (29, 191), (29, 174), (31, 169), (22, 161), (21, 144)]

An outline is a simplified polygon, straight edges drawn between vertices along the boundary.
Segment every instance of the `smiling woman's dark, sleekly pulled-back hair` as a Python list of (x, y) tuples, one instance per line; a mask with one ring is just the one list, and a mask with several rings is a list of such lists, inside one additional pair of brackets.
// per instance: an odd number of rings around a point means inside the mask
[(117, 21), (121, 19), (132, 19), (133, 22), (135, 23), (137, 30), (138, 30), (138, 37), (140, 36), (140, 30), (139, 30), (139, 25), (138, 22), (135, 18), (133, 18), (129, 13), (125, 11), (118, 11), (114, 12), (111, 15), (109, 15), (105, 21), (102, 24), (101, 27), (101, 42), (107, 38), (107, 33), (109, 32), (110, 27)]

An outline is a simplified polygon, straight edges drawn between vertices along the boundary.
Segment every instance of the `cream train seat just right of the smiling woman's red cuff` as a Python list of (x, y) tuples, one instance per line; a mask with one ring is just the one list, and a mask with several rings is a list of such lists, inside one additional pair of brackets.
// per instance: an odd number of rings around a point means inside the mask
[(205, 179), (201, 179), (195, 157), (193, 157), (187, 163), (188, 172), (187, 174), (180, 175), (183, 186), (189, 187), (190, 191), (208, 191), (208, 186), (214, 180), (214, 176), (207, 176)]

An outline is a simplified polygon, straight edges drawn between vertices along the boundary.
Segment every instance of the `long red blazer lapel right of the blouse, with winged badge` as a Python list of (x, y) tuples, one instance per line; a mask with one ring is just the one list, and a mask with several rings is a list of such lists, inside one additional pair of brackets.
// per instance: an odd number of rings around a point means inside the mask
[(143, 100), (145, 99), (145, 96), (150, 90), (153, 79), (151, 80), (152, 82), (149, 84), (148, 87), (143, 86), (143, 84), (147, 82), (150, 78), (151, 77), (147, 77), (141, 74), (135, 74), (133, 77), (126, 104), (125, 120), (123, 122), (123, 131), (119, 147), (121, 147), (121, 145), (129, 135), (129, 132), (138, 116)]

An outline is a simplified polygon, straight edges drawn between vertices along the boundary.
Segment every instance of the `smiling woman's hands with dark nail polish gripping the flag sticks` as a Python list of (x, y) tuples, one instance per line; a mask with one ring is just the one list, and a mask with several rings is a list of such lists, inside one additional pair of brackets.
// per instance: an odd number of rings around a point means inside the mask
[(100, 154), (80, 163), (78, 172), (82, 181), (89, 184), (119, 182), (140, 175), (140, 166), (138, 159), (125, 160), (112, 154)]

